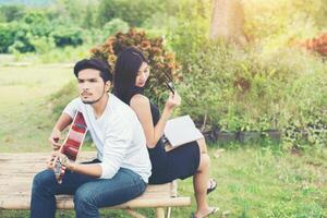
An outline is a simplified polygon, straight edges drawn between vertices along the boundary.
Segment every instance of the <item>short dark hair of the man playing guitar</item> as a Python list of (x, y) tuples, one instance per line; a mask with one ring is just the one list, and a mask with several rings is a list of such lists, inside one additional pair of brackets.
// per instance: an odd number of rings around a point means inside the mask
[(75, 76), (78, 77), (78, 72), (85, 69), (98, 70), (100, 71), (100, 77), (104, 80), (105, 83), (107, 83), (108, 81), (112, 82), (110, 66), (105, 60), (90, 58), (78, 61), (74, 66)]

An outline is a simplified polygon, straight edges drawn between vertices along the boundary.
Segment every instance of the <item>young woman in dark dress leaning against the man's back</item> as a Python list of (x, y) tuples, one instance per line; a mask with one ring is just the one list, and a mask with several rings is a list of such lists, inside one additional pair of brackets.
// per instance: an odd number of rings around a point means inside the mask
[(144, 55), (136, 48), (123, 50), (114, 66), (113, 93), (135, 111), (143, 126), (149, 157), (153, 165), (149, 183), (162, 184), (175, 179), (193, 175), (193, 186), (197, 209), (194, 217), (206, 217), (218, 210), (209, 207), (206, 194), (216, 187), (215, 180), (209, 180), (209, 156), (204, 140), (191, 142), (170, 152), (162, 143), (164, 129), (173, 108), (180, 105), (178, 93), (170, 93), (162, 114), (143, 89), (149, 76), (149, 66)]

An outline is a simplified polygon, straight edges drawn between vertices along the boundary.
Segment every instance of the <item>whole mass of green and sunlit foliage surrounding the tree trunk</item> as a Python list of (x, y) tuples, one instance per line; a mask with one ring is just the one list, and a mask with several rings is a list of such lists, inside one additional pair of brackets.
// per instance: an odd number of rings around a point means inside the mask
[(179, 25), (168, 35), (182, 65), (179, 90), (184, 100), (179, 112), (207, 129), (281, 130), (286, 147), (325, 145), (326, 64), (291, 48), (319, 31), (314, 17), (296, 1), (246, 1), (251, 44), (239, 48), (209, 41), (210, 17), (201, 13), (208, 11), (208, 1), (190, 4), (181, 8)]

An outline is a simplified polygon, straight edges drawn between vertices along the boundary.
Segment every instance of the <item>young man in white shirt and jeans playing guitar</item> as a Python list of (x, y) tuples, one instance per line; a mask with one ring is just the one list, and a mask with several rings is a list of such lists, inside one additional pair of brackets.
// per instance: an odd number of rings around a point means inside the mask
[[(48, 169), (34, 178), (32, 218), (55, 217), (56, 194), (74, 194), (76, 217), (99, 217), (98, 208), (141, 195), (150, 175), (145, 136), (136, 114), (108, 93), (112, 80), (109, 65), (99, 59), (84, 59), (75, 64), (74, 74), (80, 97), (65, 107), (50, 135), (55, 152)], [(71, 162), (58, 152), (60, 133), (76, 111), (83, 113), (98, 152), (97, 159), (89, 164)], [(61, 184), (53, 172), (56, 157), (66, 168)]]

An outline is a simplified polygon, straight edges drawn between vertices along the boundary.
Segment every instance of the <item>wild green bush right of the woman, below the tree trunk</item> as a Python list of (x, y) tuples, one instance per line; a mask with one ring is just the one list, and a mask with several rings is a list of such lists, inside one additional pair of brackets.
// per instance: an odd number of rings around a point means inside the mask
[[(326, 144), (327, 66), (300, 50), (262, 53), (223, 41), (183, 58), (181, 113), (223, 131), (283, 131), (286, 144)], [(303, 143), (305, 142), (305, 143)]]

